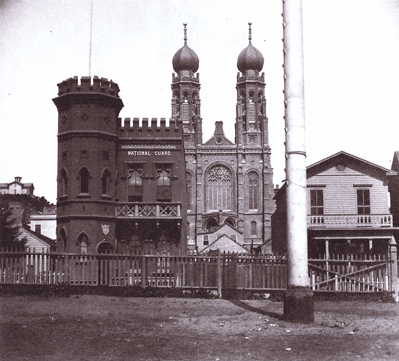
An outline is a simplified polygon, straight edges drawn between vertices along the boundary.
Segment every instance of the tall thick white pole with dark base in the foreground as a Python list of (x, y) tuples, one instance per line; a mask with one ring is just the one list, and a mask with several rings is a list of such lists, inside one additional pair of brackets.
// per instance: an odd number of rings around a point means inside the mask
[(301, 0), (283, 0), (283, 28), (288, 264), (284, 318), (311, 323), (314, 311), (308, 276)]

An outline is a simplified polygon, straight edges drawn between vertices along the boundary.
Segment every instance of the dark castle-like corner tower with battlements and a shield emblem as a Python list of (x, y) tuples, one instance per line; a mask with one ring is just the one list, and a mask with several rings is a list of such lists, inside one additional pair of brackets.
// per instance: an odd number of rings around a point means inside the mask
[(96, 76), (58, 84), (57, 251), (113, 251), (118, 93)]

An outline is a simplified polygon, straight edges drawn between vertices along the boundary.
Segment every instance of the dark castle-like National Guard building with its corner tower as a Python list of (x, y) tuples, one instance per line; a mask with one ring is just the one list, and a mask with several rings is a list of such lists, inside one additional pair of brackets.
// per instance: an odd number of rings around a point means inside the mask
[(116, 83), (58, 84), (57, 250), (186, 252), (182, 124), (124, 119)]

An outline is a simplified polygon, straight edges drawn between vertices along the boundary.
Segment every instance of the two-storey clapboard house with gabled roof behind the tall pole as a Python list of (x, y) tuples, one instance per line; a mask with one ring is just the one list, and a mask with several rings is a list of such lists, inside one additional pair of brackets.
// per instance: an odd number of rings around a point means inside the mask
[[(309, 257), (385, 254), (393, 227), (388, 182), (397, 175), (346, 152), (306, 168)], [(285, 185), (275, 195), (272, 250), (286, 252)]]

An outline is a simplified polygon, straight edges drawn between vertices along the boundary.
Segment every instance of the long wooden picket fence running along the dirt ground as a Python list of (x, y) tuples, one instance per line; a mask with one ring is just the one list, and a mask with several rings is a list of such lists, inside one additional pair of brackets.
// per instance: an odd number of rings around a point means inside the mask
[[(397, 261), (385, 256), (310, 259), (310, 288), (391, 291), (393, 267), (397, 271)], [(284, 256), (231, 253), (167, 256), (0, 252), (1, 283), (207, 288), (217, 289), (219, 295), (222, 289), (284, 290), (287, 260)]]

